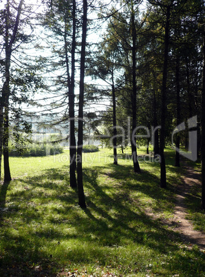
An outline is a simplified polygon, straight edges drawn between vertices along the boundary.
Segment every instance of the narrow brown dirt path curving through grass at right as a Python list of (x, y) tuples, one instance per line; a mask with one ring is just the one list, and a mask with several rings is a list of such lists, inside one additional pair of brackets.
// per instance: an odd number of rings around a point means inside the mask
[(191, 221), (186, 219), (188, 213), (184, 204), (186, 194), (188, 194), (191, 187), (195, 184), (200, 185), (199, 172), (186, 166), (186, 176), (182, 176), (182, 179), (183, 182), (177, 187), (178, 193), (176, 195), (174, 218), (172, 219), (175, 224), (174, 230), (180, 232), (182, 239), (186, 242), (198, 245), (200, 249), (205, 250), (205, 234), (193, 229)]

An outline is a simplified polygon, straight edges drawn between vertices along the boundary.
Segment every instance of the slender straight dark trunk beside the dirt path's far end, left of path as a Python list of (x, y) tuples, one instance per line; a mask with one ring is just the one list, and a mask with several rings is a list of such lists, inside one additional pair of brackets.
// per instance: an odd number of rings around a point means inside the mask
[[(181, 121), (181, 109), (180, 109), (180, 59), (177, 56), (176, 61), (176, 90), (177, 90), (177, 125)], [(176, 134), (176, 147), (180, 149), (180, 135)], [(176, 150), (175, 152), (175, 166), (180, 167), (180, 153)]]

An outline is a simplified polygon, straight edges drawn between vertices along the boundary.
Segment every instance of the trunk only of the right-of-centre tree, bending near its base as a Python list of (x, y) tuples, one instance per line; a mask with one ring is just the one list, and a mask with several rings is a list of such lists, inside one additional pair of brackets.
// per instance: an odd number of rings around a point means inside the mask
[(131, 136), (131, 152), (133, 158), (133, 169), (134, 172), (140, 173), (140, 165), (138, 163), (137, 146), (135, 139), (135, 132), (137, 127), (137, 87), (136, 87), (136, 25), (135, 25), (135, 14), (133, 10), (133, 3), (131, 6), (131, 31), (132, 31), (132, 136)]

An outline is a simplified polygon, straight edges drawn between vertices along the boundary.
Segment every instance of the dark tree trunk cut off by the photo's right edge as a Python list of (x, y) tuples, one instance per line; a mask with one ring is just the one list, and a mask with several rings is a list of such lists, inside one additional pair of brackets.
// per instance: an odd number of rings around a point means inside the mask
[(203, 65), (203, 75), (202, 75), (202, 209), (205, 210), (205, 26), (204, 26), (204, 41), (203, 41), (203, 56), (204, 56), (204, 65)]

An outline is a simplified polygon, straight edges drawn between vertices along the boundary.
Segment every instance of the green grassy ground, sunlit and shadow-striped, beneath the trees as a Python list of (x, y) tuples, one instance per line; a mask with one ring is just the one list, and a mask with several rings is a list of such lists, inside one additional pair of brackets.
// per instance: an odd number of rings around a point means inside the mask
[[(205, 254), (147, 215), (173, 217), (184, 169), (171, 150), (167, 189), (148, 157), (134, 174), (128, 152), (117, 166), (111, 150), (84, 153), (84, 210), (69, 187), (68, 154), (10, 158), (13, 180), (0, 191), (0, 276), (205, 276)], [(191, 218), (200, 216), (204, 229), (199, 189), (190, 197)]]

